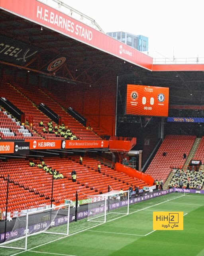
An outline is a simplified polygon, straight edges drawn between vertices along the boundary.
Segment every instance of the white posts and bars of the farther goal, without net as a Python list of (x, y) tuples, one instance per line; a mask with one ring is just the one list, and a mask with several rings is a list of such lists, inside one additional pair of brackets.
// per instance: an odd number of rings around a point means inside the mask
[[(122, 214), (122, 215), (124, 215), (124, 216), (129, 214), (129, 190), (125, 190), (125, 191), (123, 191), (123, 192), (120, 192), (120, 191), (113, 191), (112, 193), (111, 193), (111, 192), (112, 192), (112, 191), (110, 191), (110, 192), (108, 192), (108, 193), (106, 193), (106, 194), (91, 195), (91, 196), (90, 196), (90, 198), (94, 198), (94, 197), (98, 197), (98, 196), (104, 196), (104, 197), (105, 197), (105, 199), (104, 199), (104, 201), (105, 201), (105, 202), (104, 202), (104, 214), (101, 215), (101, 216), (92, 218), (92, 219), (88, 219), (88, 218), (87, 218), (87, 221), (105, 223), (105, 222), (106, 222), (106, 216), (107, 216), (108, 214), (114, 213), (114, 214)], [(125, 193), (127, 193), (127, 201), (128, 201), (128, 204), (126, 205), (126, 206), (127, 206), (127, 213), (122, 213), (122, 212), (108, 212), (108, 210), (107, 210), (107, 199), (108, 199), (109, 196), (111, 196), (111, 195), (116, 195), (117, 193), (118, 193), (118, 194), (125, 194)], [(88, 205), (90, 205), (90, 204), (93, 204), (93, 202), (89, 203)], [(121, 207), (119, 207), (119, 208), (122, 208), (122, 207), (124, 207), (124, 206), (121, 206)], [(89, 209), (88, 209), (88, 212), (89, 212)], [(99, 218), (99, 217), (102, 217), (102, 216), (104, 216), (104, 221), (94, 220), (94, 219)]]

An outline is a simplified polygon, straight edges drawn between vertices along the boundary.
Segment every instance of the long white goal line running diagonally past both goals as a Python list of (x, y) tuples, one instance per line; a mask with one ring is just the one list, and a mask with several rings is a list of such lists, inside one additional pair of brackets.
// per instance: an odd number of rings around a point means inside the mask
[[(185, 195), (182, 195), (182, 196), (185, 196)], [(145, 209), (147, 209), (147, 208), (150, 208), (150, 207), (153, 207), (153, 206), (156, 206), (156, 205), (159, 205), (159, 204), (163, 204), (163, 203), (169, 202), (169, 201), (171, 201), (171, 200), (180, 198), (180, 197), (182, 197), (182, 196), (178, 196), (178, 197), (176, 197), (176, 198), (172, 198), (172, 199), (166, 200), (166, 201), (164, 201), (164, 202), (161, 202), (161, 203), (158, 203), (158, 204), (155, 204), (155, 205), (152, 205), (152, 206), (145, 207), (145, 208), (143, 208), (143, 209), (140, 209), (140, 210), (131, 212), (131, 213), (129, 213), (128, 215), (133, 214), (133, 213), (135, 213), (135, 212), (139, 212), (139, 211), (145, 210)], [(124, 215), (124, 216), (128, 216), (128, 215)], [(120, 216), (120, 217), (115, 218), (115, 219), (113, 219), (113, 220), (122, 218), (122, 217), (124, 217), (124, 216)], [(110, 222), (110, 221), (112, 221), (112, 220), (108, 220), (107, 222)], [(107, 222), (100, 223), (100, 224), (98, 224), (98, 225), (96, 225), (96, 226), (100, 226), (100, 225), (102, 225), (102, 224), (104, 224), (104, 223), (107, 223)], [(96, 226), (93, 226), (93, 227), (90, 227), (90, 228), (95, 228)], [(90, 228), (86, 228), (86, 229), (84, 229), (84, 230), (75, 232), (75, 233), (73, 233), (73, 234), (70, 234), (69, 236), (73, 236), (73, 235), (75, 235), (75, 234), (77, 234), (77, 233), (83, 232), (83, 231), (88, 230), (88, 229), (90, 229)], [(57, 239), (55, 239), (55, 240), (49, 241), (49, 242), (47, 242), (47, 243), (45, 243), (45, 244), (49, 244), (49, 243), (52, 243), (52, 242), (56, 242), (56, 241), (58, 241), (58, 240), (61, 240), (61, 239), (63, 239), (63, 238), (69, 237), (69, 236), (63, 236), (63, 237), (57, 238)], [(41, 245), (35, 246), (35, 247), (33, 247), (33, 248), (30, 248), (29, 250), (33, 250), (33, 249), (35, 249), (35, 248), (37, 248), (37, 247), (40, 247), (40, 246), (43, 246), (43, 245), (45, 245), (45, 244), (41, 244)], [(10, 255), (10, 256), (15, 256), (15, 255), (21, 254), (21, 253), (26, 252), (26, 251), (28, 251), (28, 250), (24, 250), (24, 251), (22, 251), (22, 252), (17, 252), (17, 253), (15, 253), (15, 254)]]

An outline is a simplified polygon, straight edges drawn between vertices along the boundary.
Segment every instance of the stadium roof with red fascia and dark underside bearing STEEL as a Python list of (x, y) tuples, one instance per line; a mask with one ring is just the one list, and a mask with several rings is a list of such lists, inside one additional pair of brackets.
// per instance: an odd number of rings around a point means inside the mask
[(87, 85), (134, 74), (140, 84), (170, 87), (170, 104), (204, 102), (203, 64), (153, 64), (151, 57), (37, 0), (1, 0), (0, 36), (3, 65)]

